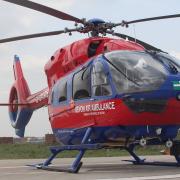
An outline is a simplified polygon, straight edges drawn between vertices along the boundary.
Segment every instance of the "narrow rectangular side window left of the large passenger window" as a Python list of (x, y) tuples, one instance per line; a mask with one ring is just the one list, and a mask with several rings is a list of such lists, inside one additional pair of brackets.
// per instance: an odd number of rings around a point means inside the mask
[(59, 103), (67, 100), (67, 82), (66, 81), (60, 81), (59, 83), (59, 97), (58, 101)]

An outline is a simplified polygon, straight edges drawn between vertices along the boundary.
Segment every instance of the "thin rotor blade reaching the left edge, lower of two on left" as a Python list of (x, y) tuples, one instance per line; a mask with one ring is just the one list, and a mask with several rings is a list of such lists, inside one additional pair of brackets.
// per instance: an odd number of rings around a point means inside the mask
[(52, 32), (45, 32), (45, 33), (29, 34), (29, 35), (24, 35), (24, 36), (0, 39), (0, 43), (19, 41), (19, 40), (24, 40), (24, 39), (39, 38), (39, 37), (45, 37), (45, 36), (54, 36), (54, 35), (59, 35), (62, 33), (65, 33), (65, 31), (63, 30), (63, 31), (52, 31)]

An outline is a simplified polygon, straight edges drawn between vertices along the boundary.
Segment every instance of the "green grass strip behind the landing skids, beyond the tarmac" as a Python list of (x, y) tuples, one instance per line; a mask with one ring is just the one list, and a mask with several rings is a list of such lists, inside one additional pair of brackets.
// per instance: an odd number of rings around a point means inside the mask
[[(50, 155), (49, 145), (46, 144), (0, 144), (0, 159), (40, 159)], [(137, 147), (139, 155), (160, 155), (164, 146)], [(71, 158), (77, 151), (64, 151), (58, 157)], [(101, 149), (89, 150), (85, 157), (113, 157), (129, 155), (125, 150)]]

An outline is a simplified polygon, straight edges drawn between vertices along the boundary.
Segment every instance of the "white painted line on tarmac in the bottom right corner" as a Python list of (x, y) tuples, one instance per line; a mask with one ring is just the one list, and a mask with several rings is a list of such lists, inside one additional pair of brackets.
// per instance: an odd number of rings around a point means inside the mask
[(180, 178), (180, 174), (163, 175), (163, 176), (147, 176), (147, 177), (128, 177), (128, 178), (113, 178), (113, 179), (96, 179), (96, 180), (156, 180), (156, 179), (174, 179)]

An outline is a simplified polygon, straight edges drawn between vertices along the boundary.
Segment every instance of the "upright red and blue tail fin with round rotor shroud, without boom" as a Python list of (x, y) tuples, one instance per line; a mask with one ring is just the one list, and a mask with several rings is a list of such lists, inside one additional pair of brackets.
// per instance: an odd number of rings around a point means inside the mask
[[(31, 95), (31, 92), (24, 78), (20, 59), (17, 55), (14, 56), (13, 70), (15, 83), (10, 90), (9, 116), (16, 135), (24, 137), (25, 127), (33, 114), (33, 109), (28, 107), (27, 98)], [(18, 104), (22, 105), (19, 106)]]

